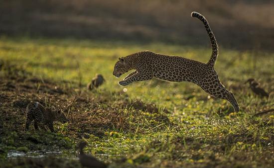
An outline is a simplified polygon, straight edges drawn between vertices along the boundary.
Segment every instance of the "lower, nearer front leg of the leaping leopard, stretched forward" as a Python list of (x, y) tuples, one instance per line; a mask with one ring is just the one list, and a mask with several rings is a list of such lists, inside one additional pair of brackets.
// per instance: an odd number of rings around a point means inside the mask
[(134, 75), (132, 75), (128, 78), (125, 78), (125, 80), (120, 81), (119, 84), (122, 85), (122, 86), (125, 86), (125, 85), (131, 84), (133, 82), (137, 82), (137, 81), (151, 80), (152, 77), (153, 77), (153, 74), (152, 74), (151, 71), (146, 71), (146, 72), (145, 71), (140, 71), (140, 72), (137, 72), (137, 73), (135, 73)]

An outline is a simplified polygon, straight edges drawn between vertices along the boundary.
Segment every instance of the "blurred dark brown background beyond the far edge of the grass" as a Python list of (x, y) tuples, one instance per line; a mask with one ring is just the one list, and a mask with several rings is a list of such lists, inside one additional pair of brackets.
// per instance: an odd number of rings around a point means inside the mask
[(197, 11), (221, 47), (273, 50), (273, 0), (0, 0), (0, 35), (208, 45)]

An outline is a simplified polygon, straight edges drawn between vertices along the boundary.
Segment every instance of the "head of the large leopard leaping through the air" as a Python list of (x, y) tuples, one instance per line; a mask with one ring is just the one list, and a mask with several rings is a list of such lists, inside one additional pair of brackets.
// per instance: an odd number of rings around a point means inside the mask
[(125, 57), (121, 57), (114, 66), (113, 75), (119, 78), (121, 75), (129, 72), (130, 70), (132, 70), (130, 61)]

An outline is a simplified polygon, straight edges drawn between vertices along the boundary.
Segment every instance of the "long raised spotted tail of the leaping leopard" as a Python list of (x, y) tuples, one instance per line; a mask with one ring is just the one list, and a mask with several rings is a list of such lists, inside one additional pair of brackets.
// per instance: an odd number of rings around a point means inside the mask
[(217, 44), (216, 38), (210, 29), (209, 23), (207, 22), (206, 18), (203, 15), (194, 11), (191, 13), (191, 16), (198, 18), (199, 20), (201, 20), (204, 23), (204, 26), (206, 28), (207, 34), (210, 38), (211, 45), (212, 45), (212, 54), (211, 54), (209, 61), (207, 62), (207, 65), (214, 67), (214, 64), (215, 64), (217, 56), (218, 56), (218, 44)]

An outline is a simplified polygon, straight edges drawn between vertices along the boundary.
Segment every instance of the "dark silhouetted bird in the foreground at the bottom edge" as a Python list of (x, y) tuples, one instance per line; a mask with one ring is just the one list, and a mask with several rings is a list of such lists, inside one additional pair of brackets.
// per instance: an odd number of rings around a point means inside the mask
[(107, 168), (108, 166), (104, 164), (103, 162), (98, 161), (96, 158), (86, 155), (83, 152), (83, 148), (87, 145), (86, 142), (80, 142), (79, 149), (79, 161), (83, 167), (87, 168)]

